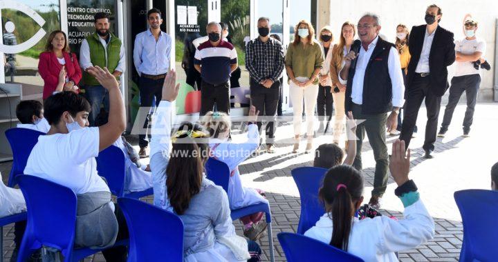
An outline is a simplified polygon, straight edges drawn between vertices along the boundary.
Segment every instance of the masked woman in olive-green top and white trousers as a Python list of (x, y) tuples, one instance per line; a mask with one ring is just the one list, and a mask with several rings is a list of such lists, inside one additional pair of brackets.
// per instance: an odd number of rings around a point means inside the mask
[(306, 112), (306, 153), (313, 147), (313, 123), (318, 96), (318, 74), (322, 70), (324, 57), (320, 44), (315, 40), (315, 29), (310, 22), (301, 20), (295, 26), (294, 41), (288, 46), (285, 65), (291, 83), (289, 91), (294, 108), (294, 148), (299, 150), (303, 99)]

